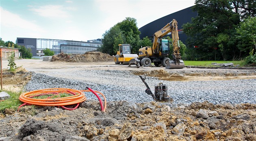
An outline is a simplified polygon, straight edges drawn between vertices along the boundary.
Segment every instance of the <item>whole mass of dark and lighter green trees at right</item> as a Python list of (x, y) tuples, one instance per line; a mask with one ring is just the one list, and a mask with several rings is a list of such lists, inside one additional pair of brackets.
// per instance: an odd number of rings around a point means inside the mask
[(242, 60), (255, 50), (255, 0), (195, 0), (192, 10), (198, 16), (182, 26), (187, 60)]

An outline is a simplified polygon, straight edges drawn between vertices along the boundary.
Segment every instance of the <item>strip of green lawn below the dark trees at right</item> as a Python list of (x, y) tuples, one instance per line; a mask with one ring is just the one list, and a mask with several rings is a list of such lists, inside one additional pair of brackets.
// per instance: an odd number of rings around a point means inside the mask
[[(209, 67), (209, 66), (214, 66), (211, 65), (212, 63), (233, 63), (234, 65), (240, 65), (244, 66), (245, 62), (244, 61), (184, 61), (185, 66), (205, 66), (205, 67)], [(219, 66), (215, 66), (215, 67), (219, 67)]]

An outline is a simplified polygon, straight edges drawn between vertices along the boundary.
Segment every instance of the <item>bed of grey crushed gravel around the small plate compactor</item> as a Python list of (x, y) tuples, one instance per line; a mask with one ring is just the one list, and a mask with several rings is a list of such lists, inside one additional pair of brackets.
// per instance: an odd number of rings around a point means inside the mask
[[(117, 70), (84, 70), (67, 73), (33, 73), (31, 81), (24, 87), (26, 91), (45, 88), (72, 88), (85, 90), (88, 86), (102, 92), (107, 101), (126, 100), (135, 103), (152, 101), (145, 93), (145, 85), (140, 77), (131, 71)], [(57, 77), (54, 77), (57, 76)], [(65, 78), (61, 78), (65, 76)], [(72, 77), (73, 76), (73, 77)], [(163, 82), (168, 86), (168, 94), (176, 104), (191, 104), (207, 100), (219, 103), (256, 103), (256, 79), (225, 81), (163, 81), (155, 77), (146, 77), (150, 89)], [(86, 92), (87, 99), (97, 98)]]

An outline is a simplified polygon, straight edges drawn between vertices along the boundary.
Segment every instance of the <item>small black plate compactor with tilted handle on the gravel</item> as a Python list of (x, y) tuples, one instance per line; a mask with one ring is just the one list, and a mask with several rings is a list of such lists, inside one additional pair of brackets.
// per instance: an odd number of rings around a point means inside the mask
[(170, 96), (167, 95), (167, 85), (164, 85), (163, 83), (159, 83), (158, 85), (155, 85), (155, 93), (153, 94), (148, 84), (145, 82), (145, 79), (146, 79), (145, 75), (139, 75), (139, 77), (141, 77), (141, 80), (147, 87), (145, 92), (148, 95), (151, 95), (154, 100), (165, 101), (165, 102), (173, 101), (172, 98), (170, 98)]

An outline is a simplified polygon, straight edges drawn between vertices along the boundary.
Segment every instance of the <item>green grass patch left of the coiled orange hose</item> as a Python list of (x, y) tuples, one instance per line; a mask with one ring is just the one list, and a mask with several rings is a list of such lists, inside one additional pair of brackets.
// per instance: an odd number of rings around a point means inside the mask
[(14, 109), (17, 110), (18, 107), (22, 104), (19, 100), (19, 96), (21, 93), (11, 92), (11, 91), (3, 91), (0, 92), (7, 92), (10, 95), (10, 99), (0, 101), (0, 112), (3, 113), (5, 109)]

